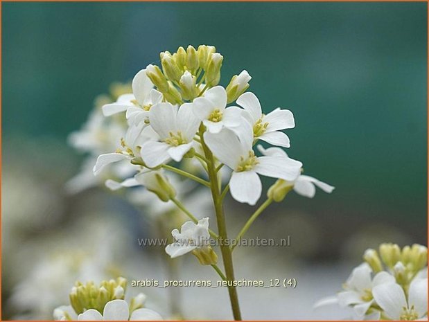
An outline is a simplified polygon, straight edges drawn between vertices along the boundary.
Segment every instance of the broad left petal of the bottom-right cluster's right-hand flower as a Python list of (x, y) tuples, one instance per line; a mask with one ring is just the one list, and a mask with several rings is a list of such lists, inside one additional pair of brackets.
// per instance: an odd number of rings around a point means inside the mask
[(403, 289), (396, 283), (381, 284), (372, 289), (372, 295), (376, 303), (385, 311), (392, 320), (399, 320), (402, 308), (407, 307)]

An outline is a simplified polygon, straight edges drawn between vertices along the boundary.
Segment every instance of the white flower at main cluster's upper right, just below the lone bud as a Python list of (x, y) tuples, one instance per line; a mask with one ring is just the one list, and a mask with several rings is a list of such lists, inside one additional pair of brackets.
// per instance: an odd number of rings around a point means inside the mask
[(293, 114), (288, 109), (274, 109), (269, 114), (262, 114), (261, 103), (254, 93), (247, 92), (237, 99), (240, 105), (248, 113), (247, 120), (253, 127), (254, 137), (272, 145), (290, 147), (290, 141), (281, 129), (292, 129), (295, 127)]

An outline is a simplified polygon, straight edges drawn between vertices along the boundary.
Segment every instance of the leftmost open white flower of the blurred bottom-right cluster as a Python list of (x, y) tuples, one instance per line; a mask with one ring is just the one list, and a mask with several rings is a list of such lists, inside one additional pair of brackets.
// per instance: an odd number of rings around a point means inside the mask
[[(371, 290), (377, 285), (394, 283), (394, 276), (386, 271), (380, 271), (371, 280), (372, 269), (365, 262), (353, 269), (351, 276), (344, 285), (344, 292), (338, 293), (338, 303), (345, 307), (353, 305), (353, 311), (357, 316), (365, 316), (369, 307), (374, 303)], [(373, 291), (374, 292), (374, 291)]]

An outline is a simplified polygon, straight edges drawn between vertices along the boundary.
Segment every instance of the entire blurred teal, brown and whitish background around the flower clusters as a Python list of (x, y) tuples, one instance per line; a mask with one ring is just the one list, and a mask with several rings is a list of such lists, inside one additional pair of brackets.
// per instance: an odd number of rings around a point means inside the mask
[[(76, 278), (114, 276), (115, 269), (129, 279), (168, 276), (162, 251), (138, 247), (137, 237), (157, 226), (144, 210), (102, 184), (64, 190), (85, 158), (67, 136), (113, 82), (128, 82), (159, 63), (160, 51), (189, 44), (222, 53), (221, 84), (246, 69), (264, 111), (291, 109), (297, 126), (287, 131), (288, 154), (306, 175), (336, 187), (314, 199), (290, 193), (252, 226), (249, 237), (290, 235), (292, 246), (238, 249), (236, 277), (297, 278), (298, 285), (240, 289), (243, 318), (338, 319), (338, 310), (311, 307), (340, 290), (365, 249), (426, 244), (427, 3), (2, 9), (3, 319), (51, 319)], [(230, 199), (228, 207), (235, 235), (252, 208)], [(180, 278), (216, 279), (192, 256), (177, 263)], [(187, 319), (231, 318), (225, 289), (134, 291), (148, 294), (164, 316), (181, 306)], [(172, 296), (181, 303), (168, 306)], [(200, 296), (208, 304), (198, 304)]]

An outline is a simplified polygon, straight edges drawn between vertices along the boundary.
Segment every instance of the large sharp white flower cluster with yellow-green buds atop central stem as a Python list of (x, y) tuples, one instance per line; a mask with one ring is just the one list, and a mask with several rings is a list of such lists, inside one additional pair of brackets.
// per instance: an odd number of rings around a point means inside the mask
[[(308, 197), (313, 197), (314, 185), (331, 192), (333, 187), (301, 175), (302, 163), (281, 149), (256, 155), (259, 140), (289, 147), (282, 130), (295, 127), (295, 120), (288, 109), (263, 114), (256, 95), (245, 92), (251, 79), (247, 71), (234, 75), (224, 88), (218, 85), (223, 57), (213, 46), (180, 47), (160, 58), (161, 68), (150, 64), (134, 76), (132, 93), (103, 106), (105, 116), (125, 112), (128, 129), (119, 149), (98, 156), (94, 173), (124, 160), (139, 166), (134, 178), (116, 184), (110, 180), (108, 186), (152, 186), (149, 190), (167, 202), (175, 189), (160, 170), (172, 170), (172, 161), (198, 159), (206, 169), (207, 162), (217, 170), (230, 168), (231, 196), (250, 205), (261, 197), (259, 175), (281, 180), (272, 195), (275, 201), (282, 199), (278, 190), (285, 185)], [(236, 104), (227, 106), (232, 102)]]

